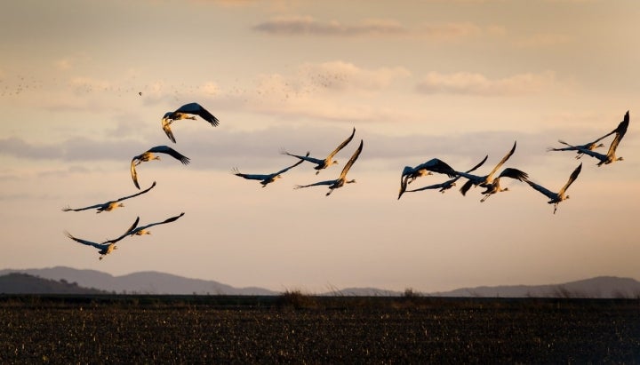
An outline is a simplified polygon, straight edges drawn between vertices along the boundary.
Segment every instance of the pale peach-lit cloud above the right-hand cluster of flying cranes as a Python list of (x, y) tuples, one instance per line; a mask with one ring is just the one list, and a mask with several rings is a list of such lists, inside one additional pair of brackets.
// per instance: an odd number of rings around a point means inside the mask
[(426, 94), (447, 93), (480, 96), (513, 96), (538, 93), (556, 83), (553, 72), (518, 74), (501, 79), (469, 72), (441, 74), (430, 72), (418, 83), (417, 90)]

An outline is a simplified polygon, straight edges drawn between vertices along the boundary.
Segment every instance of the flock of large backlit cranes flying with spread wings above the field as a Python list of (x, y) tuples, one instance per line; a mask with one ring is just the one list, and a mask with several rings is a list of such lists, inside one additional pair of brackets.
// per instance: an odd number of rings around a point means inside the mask
[[(176, 121), (180, 121), (183, 119), (195, 120), (196, 115), (200, 116), (202, 119), (204, 119), (204, 121), (210, 123), (213, 127), (216, 127), (220, 124), (220, 121), (218, 120), (218, 118), (212, 115), (208, 110), (206, 110), (200, 104), (196, 102), (189, 103), (189, 104), (183, 105), (182, 107), (179, 107), (175, 111), (167, 112), (163, 116), (161, 120), (162, 128), (167, 138), (169, 138), (173, 143), (176, 143), (175, 136), (173, 135), (173, 132), (171, 129), (172, 123), (175, 123)], [(597, 166), (602, 166), (604, 164), (621, 161), (622, 157), (616, 156), (616, 149), (620, 145), (620, 140), (624, 137), (625, 133), (627, 132), (628, 123), (629, 123), (629, 112), (627, 112), (624, 115), (624, 119), (618, 124), (618, 126), (614, 130), (604, 134), (604, 136), (599, 137), (598, 139), (592, 142), (589, 142), (583, 145), (571, 145), (565, 142), (564, 140), (559, 140), (558, 142), (564, 145), (565, 147), (550, 147), (548, 148), (548, 151), (573, 151), (573, 152), (576, 152), (577, 154), (575, 155), (576, 159), (580, 159), (583, 155), (588, 155), (598, 160)], [(606, 155), (596, 152), (595, 151), (596, 148), (604, 147), (604, 144), (601, 142), (601, 140), (606, 139), (607, 137), (613, 134), (615, 135), (615, 137), (613, 138), (612, 143), (610, 144)], [(317, 175), (318, 173), (320, 173), (320, 171), (327, 169), (328, 167), (338, 163), (337, 161), (334, 160), (335, 155), (337, 155), (340, 152), (340, 150), (342, 150), (344, 147), (347, 147), (349, 142), (351, 142), (351, 140), (354, 139), (355, 135), (356, 135), (356, 128), (353, 129), (353, 131), (351, 132), (351, 134), (348, 136), (347, 139), (343, 140), (338, 147), (333, 149), (332, 152), (329, 153), (329, 155), (327, 155), (323, 159), (311, 157), (309, 156), (310, 155), (309, 152), (307, 152), (306, 155), (295, 155), (286, 150), (283, 150), (282, 151), (283, 155), (292, 156), (295, 159), (297, 159), (297, 161), (295, 163), (292, 163), (292, 165), (284, 167), (284, 169), (282, 170), (268, 173), (268, 174), (245, 174), (238, 171), (237, 168), (234, 168), (231, 172), (234, 175), (243, 179), (258, 180), (260, 181), (260, 184), (262, 187), (268, 186), (268, 184), (273, 183), (277, 179), (281, 179), (282, 175), (285, 172), (290, 171), (291, 169), (305, 162), (312, 163), (315, 165), (314, 169), (316, 170), (316, 175)], [(453, 186), (456, 186), (456, 182), (459, 179), (466, 179), (467, 181), (460, 187), (460, 193), (462, 195), (467, 194), (468, 190), (472, 186), (483, 187), (484, 191), (482, 192), (482, 194), (484, 196), (481, 199), (481, 202), (484, 202), (492, 194), (497, 194), (503, 191), (507, 191), (508, 187), (500, 186), (500, 179), (509, 178), (509, 179), (516, 179), (518, 181), (522, 181), (528, 184), (529, 186), (531, 186), (533, 189), (539, 191), (541, 194), (545, 195), (548, 198), (548, 203), (554, 204), (553, 212), (554, 214), (556, 214), (558, 204), (560, 202), (563, 202), (564, 200), (569, 199), (569, 195), (566, 194), (566, 190), (569, 188), (569, 186), (572, 185), (572, 183), (580, 175), (580, 171), (582, 169), (582, 163), (580, 163), (578, 167), (576, 167), (575, 170), (572, 171), (566, 184), (564, 184), (564, 186), (562, 186), (556, 192), (549, 190), (547, 187), (541, 186), (540, 184), (533, 182), (531, 179), (529, 179), (529, 175), (526, 172), (516, 168), (511, 168), (511, 167), (505, 168), (496, 175), (496, 173), (500, 170), (502, 165), (504, 165), (504, 163), (508, 161), (509, 157), (511, 157), (511, 155), (514, 154), (514, 152), (516, 151), (516, 145), (517, 143), (514, 142), (513, 147), (511, 147), (507, 155), (505, 155), (500, 160), (500, 162), (493, 167), (492, 171), (490, 171), (487, 175), (475, 175), (475, 174), (472, 174), (471, 172), (476, 171), (478, 168), (480, 168), (487, 161), (489, 157), (488, 155), (484, 156), (484, 159), (482, 161), (480, 161), (479, 163), (477, 163), (475, 166), (468, 169), (467, 171), (456, 171), (448, 163), (445, 163), (444, 161), (438, 158), (432, 158), (428, 160), (426, 163), (420, 163), (415, 167), (405, 166), (400, 177), (400, 191), (397, 196), (397, 199), (399, 200), (402, 197), (402, 195), (405, 193), (414, 193), (414, 192), (420, 192), (425, 190), (438, 190), (439, 192), (444, 193), (447, 190), (451, 189)], [(309, 187), (309, 186), (327, 186), (329, 188), (329, 191), (325, 195), (328, 196), (332, 194), (332, 192), (337, 188), (345, 186), (346, 184), (355, 183), (356, 182), (355, 179), (347, 179), (347, 174), (349, 169), (351, 169), (351, 167), (353, 166), (353, 164), (356, 163), (358, 156), (361, 154), (363, 150), (363, 146), (364, 146), (364, 140), (361, 139), (360, 144), (356, 148), (356, 151), (353, 153), (353, 155), (351, 155), (351, 157), (343, 167), (337, 179), (318, 181), (316, 183), (312, 183), (308, 185), (296, 185), (293, 188), (300, 189), (300, 188)], [(170, 155), (174, 159), (180, 161), (180, 163), (183, 163), (185, 165), (189, 163), (189, 158), (187, 156), (180, 154), (180, 152), (168, 146), (151, 147), (147, 151), (143, 152), (142, 154), (133, 156), (132, 162), (131, 162), (131, 175), (132, 175), (133, 185), (136, 186), (139, 190), (140, 190), (140, 185), (138, 183), (138, 172), (136, 171), (136, 167), (139, 166), (140, 163), (146, 163), (153, 160), (160, 160), (160, 155), (158, 154)], [(446, 175), (449, 179), (439, 184), (422, 186), (415, 189), (408, 189), (409, 185), (412, 184), (412, 182), (414, 182), (416, 179), (426, 175), (432, 175), (434, 173)], [(141, 194), (147, 194), (155, 186), (156, 186), (156, 182), (154, 181), (153, 184), (149, 186), (147, 189), (141, 190), (136, 194), (127, 195), (113, 201), (94, 204), (84, 208), (72, 209), (67, 207), (67, 208), (63, 208), (62, 210), (81, 211), (81, 210), (95, 209), (97, 210), (96, 213), (115, 210), (116, 208), (124, 206), (124, 203), (123, 203), (124, 200), (131, 199)], [(76, 242), (80, 242), (80, 243), (83, 243), (84, 245), (92, 246), (98, 249), (99, 250), (98, 252), (100, 253), (100, 259), (102, 259), (104, 258), (104, 256), (111, 253), (113, 250), (117, 249), (116, 242), (120, 242), (124, 238), (134, 236), (134, 235), (150, 234), (150, 232), (148, 231), (149, 227), (164, 225), (167, 223), (174, 222), (178, 218), (182, 217), (184, 214), (185, 213), (182, 212), (175, 217), (166, 218), (163, 221), (150, 223), (145, 226), (138, 226), (138, 223), (140, 222), (140, 217), (138, 217), (133, 222), (132, 226), (130, 226), (124, 231), (124, 234), (121, 234), (115, 239), (111, 239), (104, 242), (92, 242), (92, 241), (84, 240), (81, 238), (77, 238), (72, 234), (69, 234), (67, 231), (65, 231), (65, 234), (68, 236), (68, 238)]]

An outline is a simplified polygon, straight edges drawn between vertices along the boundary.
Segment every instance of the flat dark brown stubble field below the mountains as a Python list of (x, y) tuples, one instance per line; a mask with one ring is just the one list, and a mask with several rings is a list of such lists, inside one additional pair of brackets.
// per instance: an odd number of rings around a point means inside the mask
[(640, 363), (638, 299), (0, 296), (0, 363)]

